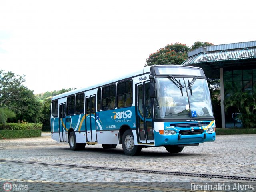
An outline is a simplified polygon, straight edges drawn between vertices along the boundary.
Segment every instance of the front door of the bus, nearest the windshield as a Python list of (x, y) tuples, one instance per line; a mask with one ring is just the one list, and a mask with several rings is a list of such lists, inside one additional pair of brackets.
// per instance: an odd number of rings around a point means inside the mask
[(138, 143), (154, 144), (150, 82), (136, 84), (136, 123)]

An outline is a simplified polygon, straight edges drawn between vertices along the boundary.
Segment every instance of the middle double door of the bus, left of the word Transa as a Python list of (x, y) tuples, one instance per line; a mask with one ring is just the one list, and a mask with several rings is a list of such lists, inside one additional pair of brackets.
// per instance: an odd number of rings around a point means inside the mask
[(97, 142), (96, 136), (96, 102), (95, 95), (86, 97), (86, 140)]

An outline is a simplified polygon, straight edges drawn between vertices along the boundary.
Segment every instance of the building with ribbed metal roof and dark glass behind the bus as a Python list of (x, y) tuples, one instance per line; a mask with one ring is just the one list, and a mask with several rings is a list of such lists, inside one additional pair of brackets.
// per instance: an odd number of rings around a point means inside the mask
[(188, 52), (188, 59), (182, 65), (200, 67), (206, 77), (220, 79), (221, 110), (216, 114), (221, 113), (221, 118), (215, 119), (221, 120), (222, 128), (241, 126), (239, 120), (234, 120), (238, 109), (225, 110), (225, 98), (232, 94), (229, 90), (247, 92), (256, 84), (256, 41), (202, 46)]

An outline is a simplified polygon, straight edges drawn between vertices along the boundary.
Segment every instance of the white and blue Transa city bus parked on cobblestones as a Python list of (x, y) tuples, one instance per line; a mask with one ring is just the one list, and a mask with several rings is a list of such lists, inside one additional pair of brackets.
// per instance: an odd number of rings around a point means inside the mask
[(52, 98), (51, 135), (71, 150), (86, 144), (115, 148), (127, 155), (164, 146), (178, 153), (186, 146), (215, 140), (210, 92), (201, 68), (146, 66), (97, 86)]

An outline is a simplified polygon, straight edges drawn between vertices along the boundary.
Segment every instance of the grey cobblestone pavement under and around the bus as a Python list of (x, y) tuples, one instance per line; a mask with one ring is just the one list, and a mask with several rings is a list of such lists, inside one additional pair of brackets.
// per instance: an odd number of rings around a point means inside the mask
[[(0, 140), (0, 160), (67, 165), (0, 162), (0, 182), (28, 182), (28, 185), (36, 186), (34, 191), (63, 191), (62, 188), (66, 191), (170, 191), (171, 184), (174, 185), (171, 191), (186, 191), (181, 190), (182, 186), (177, 187), (180, 183), (176, 182), (233, 180), (90, 170), (70, 168), (68, 164), (256, 177), (255, 138), (256, 135), (217, 136), (213, 143), (186, 147), (179, 154), (170, 154), (165, 148), (158, 147), (142, 148), (140, 156), (124, 155), (121, 145), (110, 150), (104, 150), (101, 145), (90, 145), (82, 151), (71, 151), (67, 143), (52, 140), (50, 133), (43, 133), (41, 138)], [(161, 188), (166, 182), (169, 187)]]

